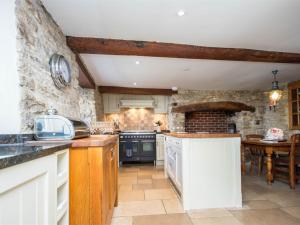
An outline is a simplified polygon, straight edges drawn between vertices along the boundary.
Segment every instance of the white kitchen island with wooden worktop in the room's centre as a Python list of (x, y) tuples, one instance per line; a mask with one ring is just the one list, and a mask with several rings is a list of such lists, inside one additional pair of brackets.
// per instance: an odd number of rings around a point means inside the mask
[(165, 174), (184, 210), (242, 207), (238, 135), (171, 133), (165, 139)]

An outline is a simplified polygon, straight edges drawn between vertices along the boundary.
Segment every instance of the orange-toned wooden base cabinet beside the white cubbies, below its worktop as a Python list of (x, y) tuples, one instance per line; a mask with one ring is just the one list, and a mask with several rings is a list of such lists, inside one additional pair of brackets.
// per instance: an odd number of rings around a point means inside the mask
[(109, 225), (117, 205), (116, 144), (70, 151), (70, 224)]

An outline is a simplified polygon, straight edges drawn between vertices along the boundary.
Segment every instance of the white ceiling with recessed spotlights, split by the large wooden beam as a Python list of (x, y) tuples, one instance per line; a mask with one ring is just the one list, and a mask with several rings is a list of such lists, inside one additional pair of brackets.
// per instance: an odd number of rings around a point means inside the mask
[[(300, 53), (299, 0), (42, 0), (66, 35)], [(184, 9), (186, 15), (177, 16)], [(97, 84), (266, 89), (300, 78), (300, 64), (84, 55)], [(141, 61), (135, 65), (135, 60)], [(189, 71), (183, 71), (189, 68)]]

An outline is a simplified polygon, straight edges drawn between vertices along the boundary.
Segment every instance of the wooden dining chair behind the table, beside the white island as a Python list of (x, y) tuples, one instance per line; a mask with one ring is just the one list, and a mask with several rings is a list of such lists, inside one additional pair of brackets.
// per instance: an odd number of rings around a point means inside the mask
[[(246, 135), (247, 141), (260, 141), (264, 138), (260, 134), (248, 134)], [(264, 151), (259, 146), (249, 147), (250, 152), (250, 174), (254, 175), (254, 168), (257, 167), (257, 175), (260, 176), (264, 165)]]

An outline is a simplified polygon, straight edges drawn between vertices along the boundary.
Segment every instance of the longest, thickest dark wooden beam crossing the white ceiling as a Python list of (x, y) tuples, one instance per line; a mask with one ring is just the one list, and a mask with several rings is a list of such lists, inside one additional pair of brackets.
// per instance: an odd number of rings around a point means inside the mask
[(243, 48), (204, 47), (162, 42), (71, 36), (67, 37), (67, 44), (74, 52), (88, 54), (136, 55), (269, 63), (300, 63), (299, 53)]

